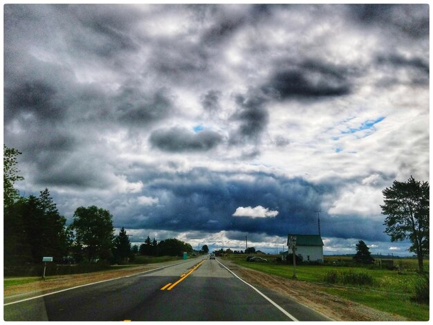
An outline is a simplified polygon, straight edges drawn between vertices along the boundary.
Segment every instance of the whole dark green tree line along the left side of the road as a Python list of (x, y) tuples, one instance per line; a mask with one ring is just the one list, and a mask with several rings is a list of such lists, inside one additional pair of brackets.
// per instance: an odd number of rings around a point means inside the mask
[(122, 228), (114, 234), (113, 216), (108, 210), (92, 205), (77, 207), (73, 222), (59, 214), (48, 189), (39, 196), (20, 196), (14, 185), (19, 180), (17, 149), (3, 145), (3, 216), (4, 264), (40, 263), (42, 257), (62, 261), (72, 256), (76, 262), (104, 260), (122, 263), (133, 260), (135, 254), (177, 256), (192, 252), (188, 243), (178, 239), (150, 241), (149, 236), (140, 250), (131, 247), (129, 236)]

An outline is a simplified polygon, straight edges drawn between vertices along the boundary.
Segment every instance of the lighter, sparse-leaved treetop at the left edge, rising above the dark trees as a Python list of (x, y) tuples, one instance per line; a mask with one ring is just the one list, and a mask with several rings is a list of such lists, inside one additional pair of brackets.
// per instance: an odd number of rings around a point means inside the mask
[(8, 148), (3, 145), (3, 207), (6, 209), (19, 198), (19, 192), (14, 188), (15, 182), (24, 180), (19, 176), (17, 169), (17, 156), (20, 155), (17, 149)]

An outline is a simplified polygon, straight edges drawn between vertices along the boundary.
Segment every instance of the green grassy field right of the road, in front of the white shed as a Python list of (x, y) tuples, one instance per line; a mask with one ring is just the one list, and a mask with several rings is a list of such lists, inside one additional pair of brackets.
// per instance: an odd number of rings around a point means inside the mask
[[(224, 257), (235, 263), (266, 272), (270, 275), (286, 277), (293, 276), (293, 266), (282, 265), (275, 262), (277, 255), (266, 255), (268, 263), (250, 263), (246, 261), (246, 255), (231, 254)], [(428, 304), (418, 304), (411, 300), (414, 295), (414, 285), (418, 278), (416, 274), (416, 259), (402, 259), (400, 263), (405, 266), (405, 272), (398, 274), (396, 270), (382, 270), (356, 266), (334, 266), (335, 261), (342, 261), (350, 257), (331, 257), (322, 266), (298, 265), (296, 267), (297, 281), (307, 281), (322, 284), (321, 289), (326, 293), (337, 295), (351, 301), (356, 301), (377, 310), (395, 313), (407, 317), (410, 320), (425, 321), (429, 319)], [(398, 260), (395, 263), (398, 266)], [(429, 262), (424, 261), (424, 268), (428, 272)], [(373, 281), (370, 285), (332, 285), (324, 282), (324, 277), (329, 272), (362, 272), (369, 275)]]

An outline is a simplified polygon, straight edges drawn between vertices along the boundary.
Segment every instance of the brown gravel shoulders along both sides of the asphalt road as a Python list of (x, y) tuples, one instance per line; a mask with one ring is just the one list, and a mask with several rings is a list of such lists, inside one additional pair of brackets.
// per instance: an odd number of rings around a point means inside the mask
[[(29, 297), (36, 297), (46, 293), (52, 293), (57, 290), (73, 288), (91, 284), (93, 282), (116, 279), (118, 277), (126, 277), (128, 275), (136, 275), (140, 272), (154, 270), (155, 268), (169, 265), (173, 262), (149, 264), (145, 266), (137, 266), (133, 268), (125, 268), (120, 270), (109, 270), (104, 272), (94, 272), (81, 275), (61, 275), (58, 277), (49, 277), (44, 281), (35, 281), (28, 284), (20, 284), (3, 288), (3, 303), (18, 301)], [(320, 291), (320, 285), (309, 284), (304, 281), (296, 281), (285, 279), (274, 275), (256, 270), (250, 270), (237, 266), (230, 261), (223, 261), (225, 266), (230, 268), (239, 277), (257, 286), (257, 288), (266, 288), (273, 293), (284, 298), (294, 299), (313, 310), (316, 310), (322, 315), (329, 317), (335, 321), (405, 321), (404, 317), (399, 315), (391, 315), (379, 310), (374, 310), (367, 306), (357, 304), (347, 299), (335, 297)]]

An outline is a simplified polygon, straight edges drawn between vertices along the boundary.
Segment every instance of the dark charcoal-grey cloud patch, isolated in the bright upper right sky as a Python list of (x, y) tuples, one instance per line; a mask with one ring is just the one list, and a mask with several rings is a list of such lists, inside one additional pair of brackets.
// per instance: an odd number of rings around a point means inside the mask
[(262, 89), (265, 93), (276, 92), (282, 100), (342, 96), (351, 93), (348, 77), (347, 68), (307, 61), (278, 68)]

